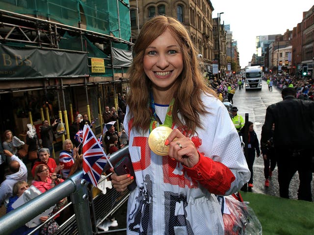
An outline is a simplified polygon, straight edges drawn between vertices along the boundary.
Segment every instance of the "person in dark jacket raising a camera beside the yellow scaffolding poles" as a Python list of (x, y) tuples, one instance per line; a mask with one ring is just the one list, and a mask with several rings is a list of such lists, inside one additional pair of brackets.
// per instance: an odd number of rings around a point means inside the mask
[(55, 140), (53, 131), (56, 129), (57, 124), (57, 119), (54, 120), (52, 125), (49, 125), (48, 120), (44, 120), (43, 125), (39, 127), (40, 137), (42, 140), (41, 145), (43, 148), (48, 148), (51, 153), (53, 150), (52, 142)]

